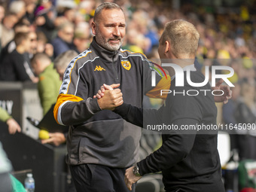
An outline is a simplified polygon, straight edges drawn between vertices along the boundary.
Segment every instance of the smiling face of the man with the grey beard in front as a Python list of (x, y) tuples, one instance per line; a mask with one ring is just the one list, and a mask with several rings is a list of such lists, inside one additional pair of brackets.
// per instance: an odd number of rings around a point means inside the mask
[(102, 10), (96, 22), (92, 23), (96, 42), (106, 50), (118, 50), (125, 35), (125, 18), (120, 9)]

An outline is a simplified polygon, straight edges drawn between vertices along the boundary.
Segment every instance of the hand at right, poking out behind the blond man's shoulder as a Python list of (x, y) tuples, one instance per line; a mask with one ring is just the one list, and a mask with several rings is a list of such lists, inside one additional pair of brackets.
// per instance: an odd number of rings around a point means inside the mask
[[(230, 87), (227, 85), (221, 85), (223, 83), (223, 79), (217, 82), (215, 87), (212, 87), (212, 90), (222, 90), (222, 91), (215, 91), (215, 95), (219, 96), (214, 96), (215, 102), (223, 102), (226, 104), (228, 102), (228, 99), (231, 99), (232, 97), (232, 90), (230, 90)], [(224, 93), (222, 96), (221, 94)]]

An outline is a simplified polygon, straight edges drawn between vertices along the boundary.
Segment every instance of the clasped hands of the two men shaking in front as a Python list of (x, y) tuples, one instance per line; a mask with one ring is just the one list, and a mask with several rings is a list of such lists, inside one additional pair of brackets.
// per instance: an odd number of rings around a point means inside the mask
[(93, 96), (98, 99), (99, 108), (113, 111), (114, 108), (123, 104), (123, 93), (117, 88), (119, 86), (120, 84), (103, 84), (100, 87), (96, 96)]

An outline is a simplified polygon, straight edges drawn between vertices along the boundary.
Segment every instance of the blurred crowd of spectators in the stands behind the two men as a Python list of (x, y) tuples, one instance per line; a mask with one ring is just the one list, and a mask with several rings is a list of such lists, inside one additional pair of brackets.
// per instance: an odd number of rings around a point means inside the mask
[[(102, 2), (105, 1), (0, 1), (0, 81), (38, 83), (45, 68), (39, 70), (37, 59), (40, 62), (47, 56), (53, 62), (67, 50), (76, 53), (86, 50), (93, 38), (90, 23), (94, 10)], [(254, 117), (252, 121), (256, 122), (256, 1), (224, 9), (191, 1), (180, 1), (178, 8), (174, 1), (164, 0), (108, 2), (116, 2), (126, 15), (126, 38), (122, 48), (144, 53), (149, 59), (159, 59), (158, 40), (165, 23), (176, 19), (194, 23), (200, 32), (196, 66), (202, 72), (205, 66), (212, 65), (234, 69), (233, 77), (229, 78), (236, 85), (232, 87), (233, 99), (229, 105), (224, 105), (221, 121), (239, 123), (238, 117), (242, 114), (234, 111), (239, 103), (244, 103)], [(32, 59), (38, 53), (44, 55)]]

